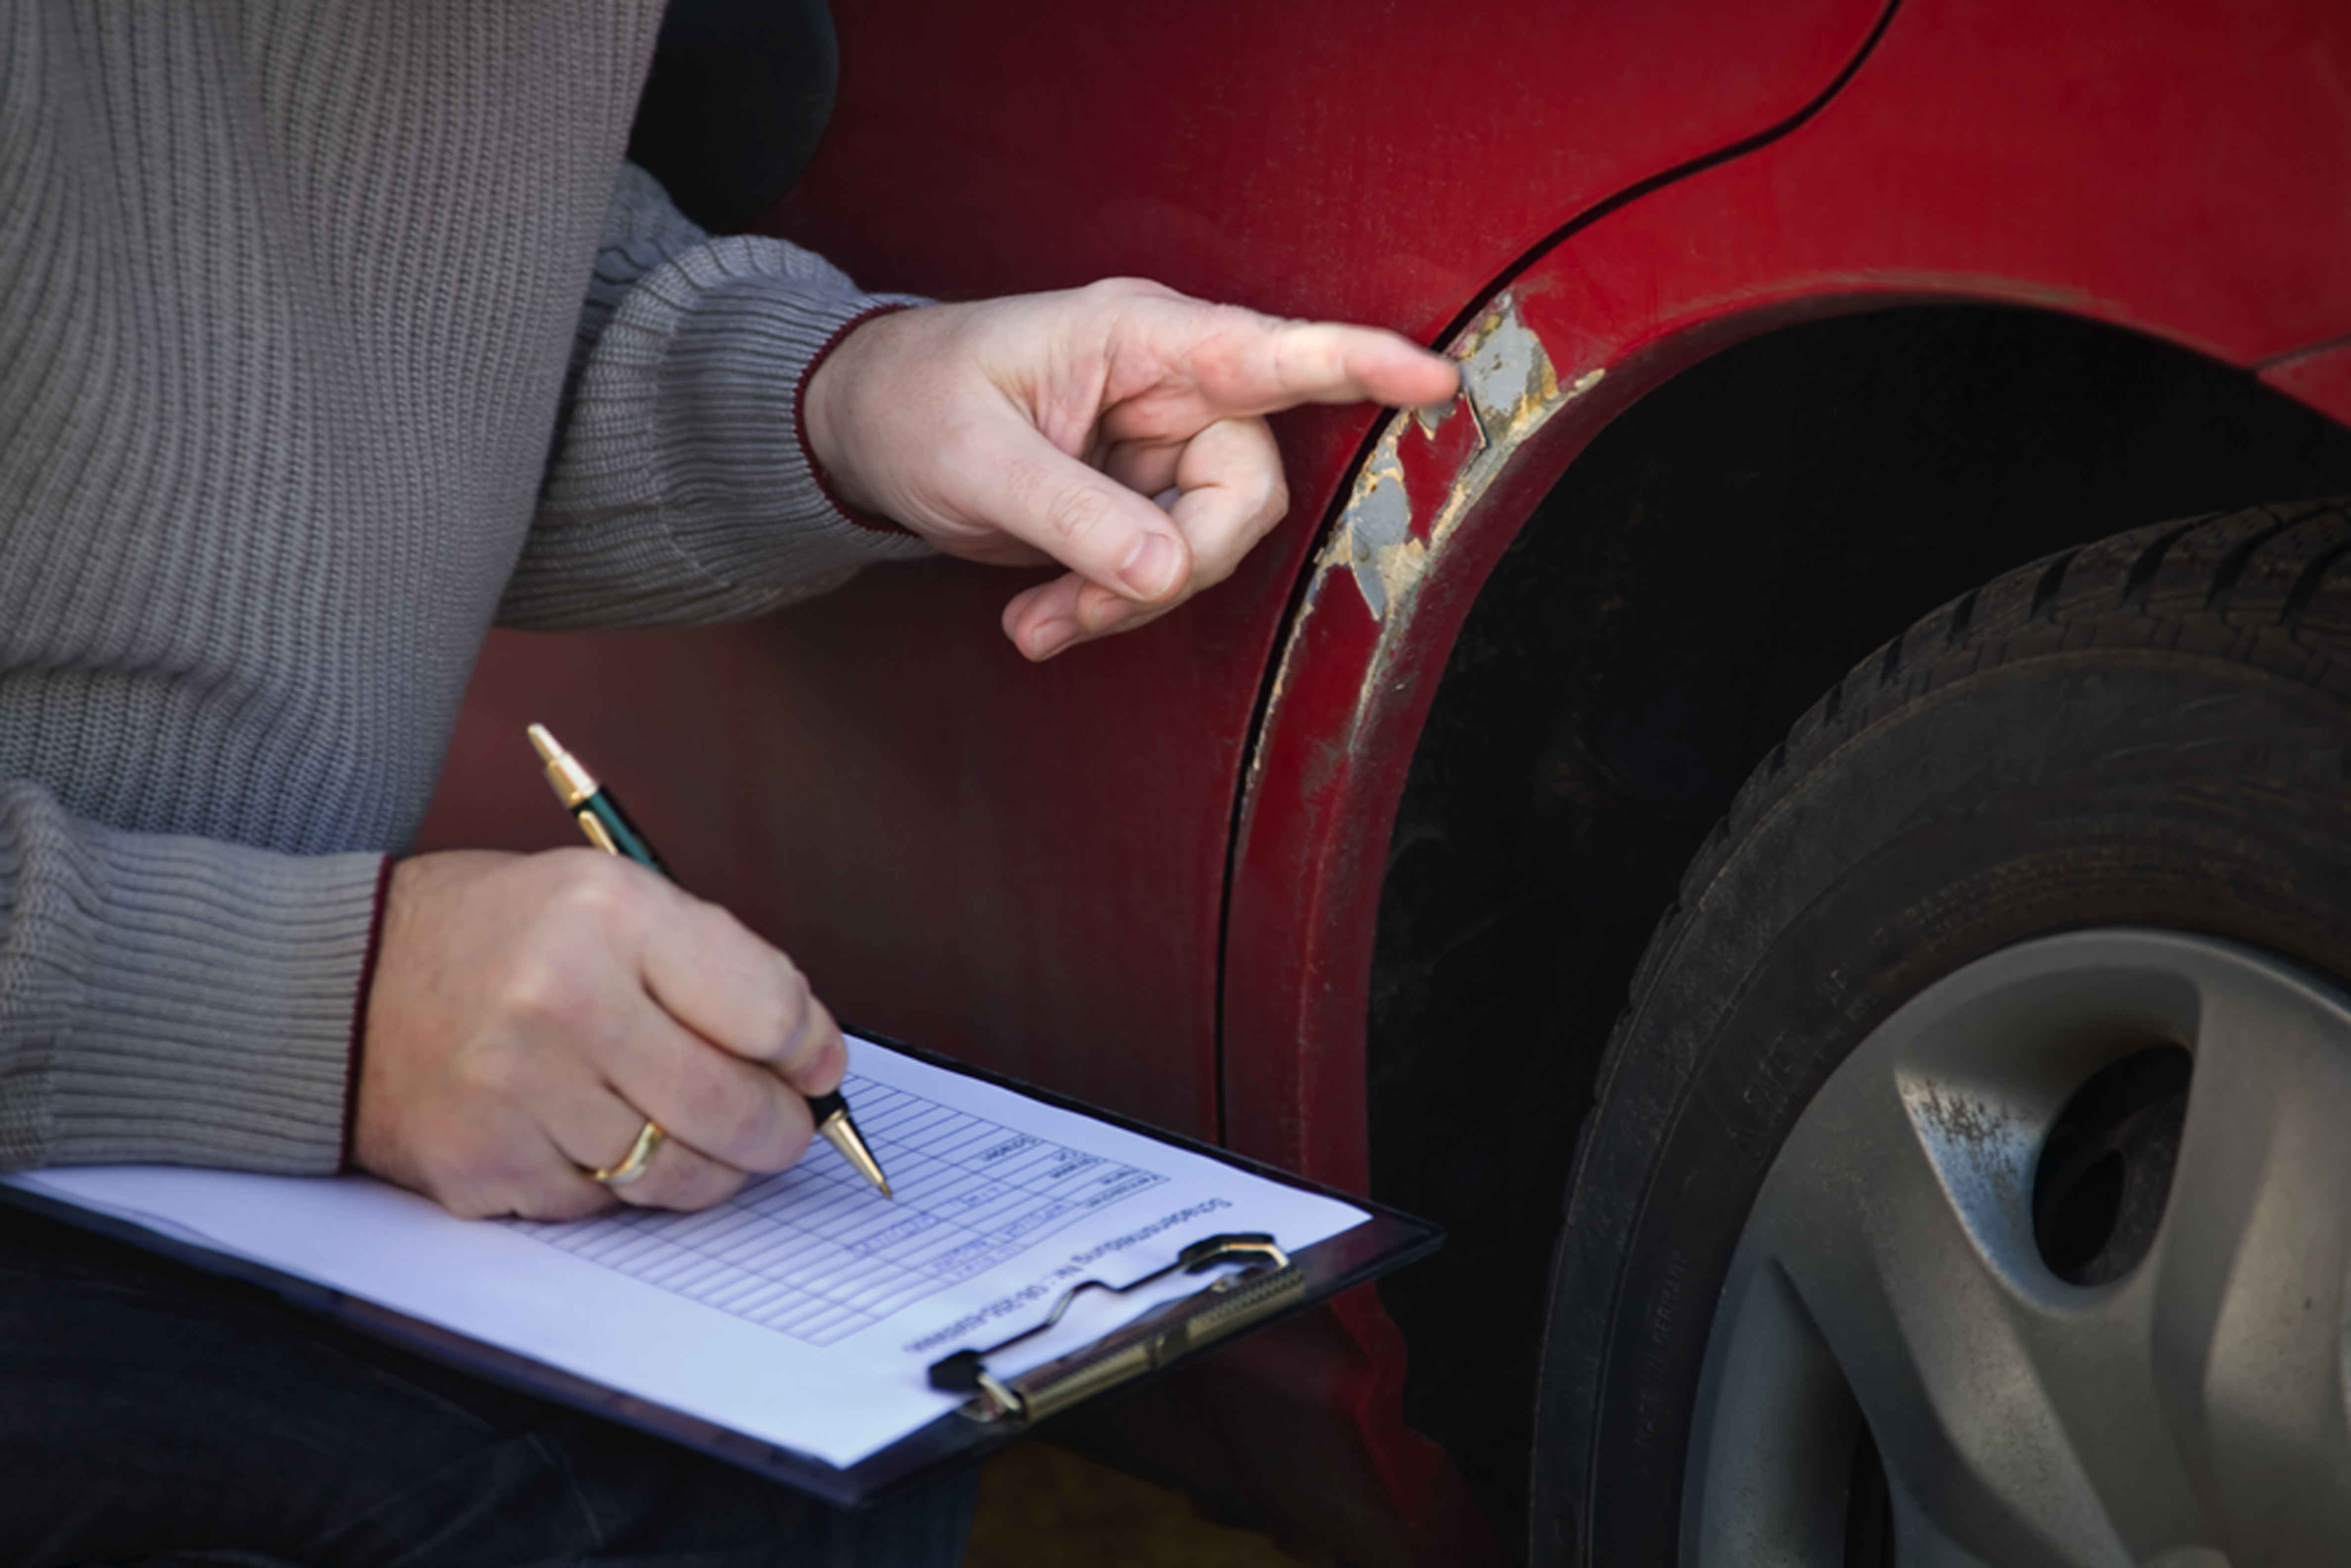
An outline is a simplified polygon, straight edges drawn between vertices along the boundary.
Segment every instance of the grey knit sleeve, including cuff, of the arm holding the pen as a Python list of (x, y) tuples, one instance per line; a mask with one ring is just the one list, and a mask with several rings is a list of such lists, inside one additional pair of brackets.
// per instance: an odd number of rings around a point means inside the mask
[(339, 1168), (386, 865), (0, 785), (0, 1168)]

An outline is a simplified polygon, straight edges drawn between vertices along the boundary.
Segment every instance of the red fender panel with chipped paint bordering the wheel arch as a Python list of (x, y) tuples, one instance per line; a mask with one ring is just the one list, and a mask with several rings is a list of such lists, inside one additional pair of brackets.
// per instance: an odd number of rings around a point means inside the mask
[[(2351, 411), (2351, 14), (1904, 0), (1789, 134), (1561, 230), (1462, 313), (1474, 418), (1387, 421), (1338, 487), (1237, 799), (1225, 1135), (1368, 1180), (1373, 907), (1436, 677), (1495, 562), (1620, 414), (1716, 353), (1916, 303), (2076, 315)], [(2224, 134), (2217, 134), (2219, 132)], [(1479, 350), (1491, 350), (1483, 357)], [(1328, 494), (1328, 491), (1321, 491)], [(1352, 1060), (1349, 1060), (1352, 1058)]]

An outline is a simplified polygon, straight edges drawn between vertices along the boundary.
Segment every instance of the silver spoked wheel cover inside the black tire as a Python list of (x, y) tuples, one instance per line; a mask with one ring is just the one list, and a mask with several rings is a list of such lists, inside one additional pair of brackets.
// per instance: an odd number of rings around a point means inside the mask
[[(2139, 1060), (2175, 1077), (2130, 1079)], [(2144, 1117), (2184, 1093), (2184, 1121), (2102, 1121), (2142, 1117), (2114, 1112), (2130, 1081), (2156, 1095)], [(1773, 1415), (1827, 1429), (1857, 1406), (1907, 1568), (2332, 1561), (2351, 1540), (2346, 1124), (2351, 1009), (2259, 954), (2116, 931), (1961, 971), (1782, 1145), (1709, 1349), (1707, 1467), (1784, 1497), (1747, 1505), (1754, 1528), (1822, 1540), (1834, 1441), (1815, 1432), (1810, 1469), (1749, 1450)], [(2078, 1164), (2106, 1159), (2097, 1126), (2123, 1128), (2132, 1182), (2104, 1232)], [(1740, 1509), (1695, 1495), (1730, 1540)]]

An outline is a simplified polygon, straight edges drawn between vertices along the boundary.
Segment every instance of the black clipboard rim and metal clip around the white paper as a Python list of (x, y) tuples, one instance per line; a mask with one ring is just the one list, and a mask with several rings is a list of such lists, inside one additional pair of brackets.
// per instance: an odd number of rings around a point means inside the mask
[[(1284, 1248), (1279, 1237), (1230, 1232), (1215, 1227), (1213, 1222), (1201, 1222), (1206, 1234), (1190, 1244), (1187, 1255), (1180, 1258), (1178, 1265), (1159, 1272), (1168, 1274), (1178, 1267), (1187, 1267), (1190, 1262), (1197, 1262), (1201, 1269), (1239, 1262), (1244, 1267), (1237, 1274), (1220, 1274), (1199, 1291), (1150, 1309), (1138, 1319), (1128, 1319), (1100, 1335), (1096, 1342), (1046, 1361), (1044, 1366), (1027, 1368), (1016, 1378), (994, 1378), (994, 1373), (987, 1371), (987, 1356), (1009, 1347), (1018, 1338), (1027, 1338), (1023, 1333), (1025, 1324), (1013, 1321), (1002, 1331), (973, 1335), (976, 1342), (962, 1345), (959, 1349), (952, 1349), (933, 1361), (933, 1387), (964, 1394), (964, 1401), (957, 1408), (853, 1465), (837, 1467), (816, 1455), (778, 1446), (668, 1403), (581, 1378), (560, 1366), (538, 1361), (522, 1349), (470, 1338), (430, 1319), (397, 1312), (362, 1295), (339, 1291), (303, 1274), (282, 1272), (237, 1253), (216, 1251), (186, 1237), (150, 1229), (94, 1208), (82, 1208), (73, 1201), (31, 1192), (12, 1182), (0, 1182), (0, 1199), (54, 1220), (141, 1246), (150, 1253), (188, 1262), (212, 1274), (259, 1284), (294, 1307), (317, 1312), (360, 1333), (414, 1349), (423, 1356), (480, 1378), (489, 1378), (505, 1387), (684, 1443), (686, 1448), (696, 1448), (731, 1465), (741, 1465), (743, 1469), (759, 1472), (839, 1507), (875, 1507), (915, 1493), (950, 1472), (985, 1460), (1037, 1429), (1056, 1425), (1065, 1415), (1098, 1408), (1107, 1399), (1147, 1387), (1218, 1345), (1230, 1345), (1246, 1333), (1310, 1312), (1342, 1291), (1434, 1253), (1441, 1244), (1441, 1232), (1434, 1225), (1382, 1204), (1331, 1192), (1302, 1178), (1274, 1171), (1260, 1161), (1232, 1154), (1230, 1150), (1218, 1150), (1192, 1138), (1150, 1128), (1128, 1117), (1079, 1105), (1067, 1095), (1041, 1091), (1006, 1074), (971, 1067), (905, 1041), (863, 1030), (853, 1032), (936, 1070), (992, 1084), (1030, 1100), (1081, 1114), (1091, 1121), (1124, 1128), (1126, 1133), (1147, 1138), (1157, 1145), (1213, 1159), (1284, 1187), (1333, 1197), (1368, 1218), (1352, 1229), (1298, 1251)], [(1133, 1288), (1140, 1284), (1145, 1281), (1074, 1281), (1065, 1291), (1063, 1302), (1041, 1302), (1037, 1319), (1044, 1319), (1046, 1312), (1058, 1312), (1067, 1305), (1067, 1298), (1081, 1291), (1091, 1288), (1114, 1295), (1119, 1288)]]

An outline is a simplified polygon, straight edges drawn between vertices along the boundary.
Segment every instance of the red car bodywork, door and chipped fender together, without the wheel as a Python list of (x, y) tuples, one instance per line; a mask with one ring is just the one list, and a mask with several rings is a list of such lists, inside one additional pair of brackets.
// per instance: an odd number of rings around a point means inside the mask
[[(520, 741), (545, 719), (846, 1018), (1342, 1187), (1368, 1182), (1371, 933), (1446, 651), (1643, 390), (1777, 324), (1998, 301), (2351, 414), (2339, 5), (1904, 0), (1824, 103), (1874, 5), (837, 14), (839, 120), (771, 216), (868, 287), (1150, 273), (1429, 341), (1519, 329), (1549, 374), (1434, 425), (1281, 416), (1291, 522), (1044, 668), (997, 630), (1030, 578), (952, 562), (741, 628), (498, 635), (426, 844), (567, 842)], [(1401, 1380), (1364, 1291), (1100, 1441), (1352, 1561), (1476, 1561)]]

